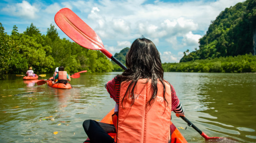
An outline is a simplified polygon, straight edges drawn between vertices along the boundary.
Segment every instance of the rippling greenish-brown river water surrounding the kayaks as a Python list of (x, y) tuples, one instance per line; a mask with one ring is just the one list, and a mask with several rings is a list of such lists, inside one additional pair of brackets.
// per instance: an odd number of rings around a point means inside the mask
[[(83, 121), (99, 121), (115, 106), (104, 85), (117, 74), (82, 73), (71, 80), (72, 89), (8, 75), (0, 83), (0, 143), (82, 143)], [(175, 88), (186, 118), (206, 135), (256, 143), (256, 74), (167, 72), (164, 78)], [(206, 142), (174, 113), (172, 122), (189, 143)]]

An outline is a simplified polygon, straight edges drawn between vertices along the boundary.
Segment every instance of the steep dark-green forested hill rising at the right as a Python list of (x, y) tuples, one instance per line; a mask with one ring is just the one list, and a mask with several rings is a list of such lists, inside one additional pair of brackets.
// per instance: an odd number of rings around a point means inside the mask
[(211, 22), (199, 40), (199, 50), (184, 52), (180, 62), (254, 53), (253, 32), (256, 31), (256, 0), (246, 0), (226, 8)]

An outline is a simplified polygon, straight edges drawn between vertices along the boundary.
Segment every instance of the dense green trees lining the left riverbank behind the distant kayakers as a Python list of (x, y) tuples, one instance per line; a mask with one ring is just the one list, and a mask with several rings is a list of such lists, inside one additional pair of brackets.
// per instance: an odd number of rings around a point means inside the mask
[(60, 39), (54, 25), (42, 35), (33, 23), (23, 33), (13, 26), (7, 35), (0, 23), (0, 79), (6, 74), (25, 74), (29, 67), (34, 73), (53, 73), (64, 66), (68, 73), (82, 70), (88, 72), (111, 72), (110, 60), (97, 50), (88, 50), (79, 44)]

